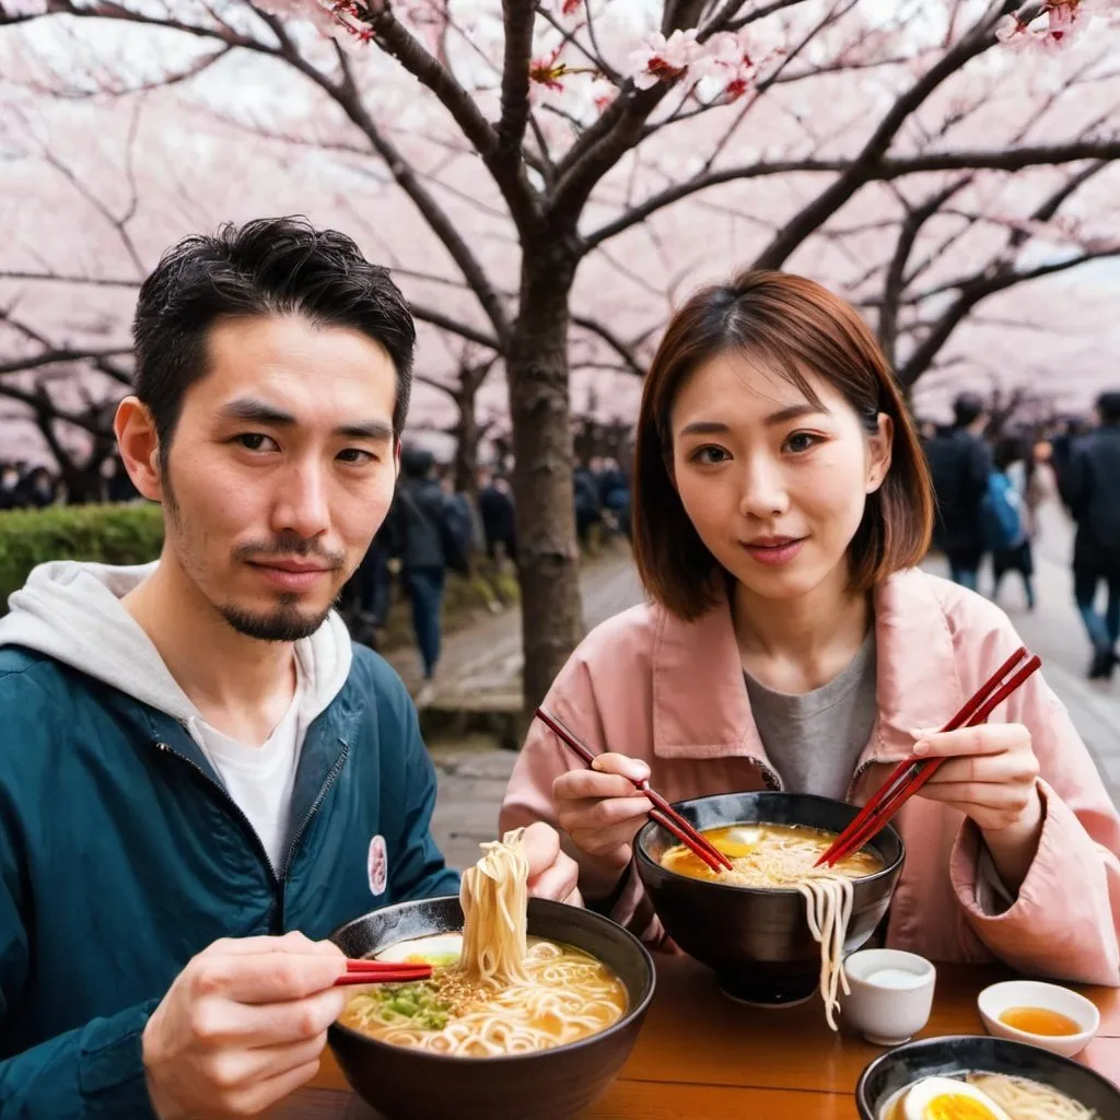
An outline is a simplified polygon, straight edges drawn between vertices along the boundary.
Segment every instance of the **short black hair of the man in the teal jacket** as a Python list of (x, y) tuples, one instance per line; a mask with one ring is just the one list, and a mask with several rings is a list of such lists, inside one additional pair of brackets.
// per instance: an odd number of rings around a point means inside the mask
[(144, 280), (132, 321), (136, 392), (155, 418), (165, 458), (187, 390), (206, 374), (206, 335), (228, 316), (307, 316), (381, 343), (396, 368), (393, 430), (412, 392), (416, 325), (389, 270), (336, 230), (304, 217), (226, 223), (168, 250)]

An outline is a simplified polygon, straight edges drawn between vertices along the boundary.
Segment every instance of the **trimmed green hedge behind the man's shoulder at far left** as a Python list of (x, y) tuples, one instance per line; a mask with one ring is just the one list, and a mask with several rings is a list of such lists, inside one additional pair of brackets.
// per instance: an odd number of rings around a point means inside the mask
[(146, 563), (159, 556), (158, 505), (56, 505), (0, 513), (0, 614), (28, 572), (47, 560)]

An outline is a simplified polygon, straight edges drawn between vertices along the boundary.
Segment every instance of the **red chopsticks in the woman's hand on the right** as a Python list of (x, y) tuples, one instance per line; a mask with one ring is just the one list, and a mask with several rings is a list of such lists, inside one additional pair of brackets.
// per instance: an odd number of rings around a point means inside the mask
[[(1005, 678), (1016, 665), (1027, 657), (1027, 647), (1019, 648), (999, 666), (999, 670), (976, 696), (942, 728), (955, 731), (959, 727), (976, 727), (983, 724), (1020, 684), (1034, 673), (1042, 661), (1030, 657), (1009, 680)], [(1002, 683), (1001, 683), (1002, 682)], [(945, 758), (904, 758), (886, 782), (871, 795), (859, 814), (837, 837), (832, 846), (816, 861), (816, 867), (831, 867), (837, 860), (859, 851), (898, 812), (905, 801), (912, 797), (934, 773)]]

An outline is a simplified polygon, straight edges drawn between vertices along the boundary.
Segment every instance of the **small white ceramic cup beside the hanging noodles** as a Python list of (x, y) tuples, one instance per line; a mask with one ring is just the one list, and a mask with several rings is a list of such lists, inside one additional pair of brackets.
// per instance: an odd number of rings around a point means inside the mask
[(897, 1046), (930, 1021), (937, 970), (899, 949), (865, 949), (844, 961), (851, 993), (840, 996), (843, 1017), (876, 1046)]

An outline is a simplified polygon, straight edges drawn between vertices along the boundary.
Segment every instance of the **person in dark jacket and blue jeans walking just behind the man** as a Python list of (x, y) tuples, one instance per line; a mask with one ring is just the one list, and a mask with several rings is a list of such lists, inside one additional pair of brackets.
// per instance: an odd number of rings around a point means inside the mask
[(435, 473), (436, 457), (417, 447), (401, 450), (401, 478), (389, 515), (392, 556), (400, 562), (401, 587), (412, 604), (412, 628), (423, 664), (417, 707), (431, 702), (442, 637), (447, 570), (469, 568), (473, 526), (464, 528), (457, 504), (449, 501)]

